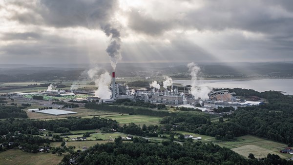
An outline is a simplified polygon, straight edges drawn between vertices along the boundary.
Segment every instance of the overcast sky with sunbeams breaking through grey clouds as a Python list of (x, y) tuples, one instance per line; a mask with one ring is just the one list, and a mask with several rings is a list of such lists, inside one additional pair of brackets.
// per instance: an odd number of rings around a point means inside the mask
[(0, 0), (0, 63), (109, 57), (293, 61), (293, 0)]

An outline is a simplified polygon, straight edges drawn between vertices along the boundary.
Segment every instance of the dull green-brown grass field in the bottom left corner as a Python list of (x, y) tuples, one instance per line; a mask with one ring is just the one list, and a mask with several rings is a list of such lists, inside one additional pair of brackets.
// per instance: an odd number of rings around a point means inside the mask
[(63, 156), (51, 153), (27, 153), (18, 149), (9, 149), (0, 153), (0, 165), (57, 165)]

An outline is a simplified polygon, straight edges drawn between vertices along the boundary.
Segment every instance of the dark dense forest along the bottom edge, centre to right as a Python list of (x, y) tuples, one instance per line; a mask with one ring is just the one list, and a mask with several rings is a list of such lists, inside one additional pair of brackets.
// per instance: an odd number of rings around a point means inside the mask
[(291, 161), (269, 154), (263, 160), (249, 159), (228, 148), (212, 143), (190, 143), (183, 145), (170, 141), (148, 144), (147, 140), (134, 138), (133, 143), (96, 144), (89, 149), (65, 155), (61, 164), (68, 165), (75, 159), (79, 165), (292, 165)]

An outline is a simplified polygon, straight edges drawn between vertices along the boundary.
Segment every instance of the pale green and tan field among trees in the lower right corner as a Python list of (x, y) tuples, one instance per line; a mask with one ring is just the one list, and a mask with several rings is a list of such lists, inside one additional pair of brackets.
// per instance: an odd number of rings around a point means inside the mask
[(279, 152), (281, 149), (287, 147), (286, 144), (265, 140), (251, 135), (238, 137), (237, 141), (233, 142), (213, 141), (213, 143), (222, 147), (225, 146), (230, 148), (244, 157), (248, 157), (249, 153), (254, 154), (255, 158), (267, 157), (269, 153), (277, 154), (281, 158), (292, 157), (290, 154), (282, 154)]

